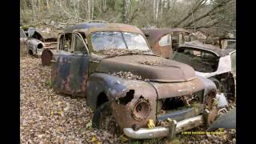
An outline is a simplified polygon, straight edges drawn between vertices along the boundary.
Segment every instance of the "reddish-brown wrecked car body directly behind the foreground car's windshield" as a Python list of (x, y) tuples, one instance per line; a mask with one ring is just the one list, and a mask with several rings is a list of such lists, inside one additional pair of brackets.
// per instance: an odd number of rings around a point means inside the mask
[(154, 54), (169, 58), (173, 50), (190, 42), (190, 32), (182, 28), (142, 29)]

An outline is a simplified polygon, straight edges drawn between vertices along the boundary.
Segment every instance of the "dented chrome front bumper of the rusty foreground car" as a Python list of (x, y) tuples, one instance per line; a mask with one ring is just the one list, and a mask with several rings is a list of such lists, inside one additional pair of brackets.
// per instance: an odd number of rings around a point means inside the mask
[(193, 118), (187, 118), (180, 122), (176, 122), (175, 120), (173, 120), (172, 122), (170, 122), (169, 127), (158, 126), (154, 129), (141, 128), (137, 131), (134, 131), (132, 128), (124, 128), (123, 133), (126, 134), (128, 138), (134, 139), (148, 139), (160, 137), (169, 137), (170, 139), (172, 139), (174, 138), (175, 134), (200, 126), (203, 124), (203, 122), (203, 116), (198, 115)]

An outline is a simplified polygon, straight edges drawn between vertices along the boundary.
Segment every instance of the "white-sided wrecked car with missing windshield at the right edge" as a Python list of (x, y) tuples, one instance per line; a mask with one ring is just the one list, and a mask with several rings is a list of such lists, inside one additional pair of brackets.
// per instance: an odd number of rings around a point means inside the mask
[(196, 75), (210, 78), (227, 98), (235, 98), (235, 49), (221, 50), (201, 42), (187, 42), (178, 47), (172, 59), (192, 66)]

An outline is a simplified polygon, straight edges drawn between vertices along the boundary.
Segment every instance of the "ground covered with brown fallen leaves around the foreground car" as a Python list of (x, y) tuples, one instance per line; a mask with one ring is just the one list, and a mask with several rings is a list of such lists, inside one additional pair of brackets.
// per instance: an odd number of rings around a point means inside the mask
[[(40, 58), (20, 58), (21, 143), (127, 143), (125, 137), (91, 128), (92, 110), (86, 98), (56, 94), (50, 88), (50, 66)], [(196, 128), (190, 131), (203, 131)], [(178, 134), (136, 143), (236, 143), (236, 130), (222, 134)]]

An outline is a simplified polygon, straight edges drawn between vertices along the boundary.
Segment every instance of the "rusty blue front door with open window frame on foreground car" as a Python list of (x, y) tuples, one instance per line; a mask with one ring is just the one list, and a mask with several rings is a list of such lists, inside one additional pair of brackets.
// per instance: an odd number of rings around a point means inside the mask
[(84, 94), (89, 60), (89, 50), (81, 34), (61, 34), (52, 64), (54, 90), (73, 95)]

